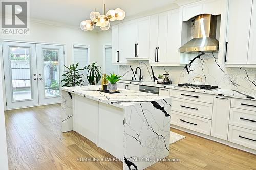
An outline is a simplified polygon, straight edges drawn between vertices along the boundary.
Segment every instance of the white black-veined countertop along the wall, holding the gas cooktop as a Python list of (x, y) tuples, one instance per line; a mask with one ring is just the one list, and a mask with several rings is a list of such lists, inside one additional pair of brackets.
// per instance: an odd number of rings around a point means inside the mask
[(210, 91), (210, 90), (203, 90), (203, 89), (190, 89), (190, 88), (178, 87), (176, 84), (162, 85), (162, 84), (157, 84), (156, 82), (143, 82), (143, 81), (141, 82), (120, 81), (120, 83), (137, 84), (137, 85), (153, 86), (153, 87), (160, 87), (160, 88), (166, 88), (166, 89), (176, 89), (176, 90), (182, 90), (182, 91), (193, 91), (198, 93), (221, 95), (221, 96), (227, 96), (231, 98), (256, 100), (256, 92), (255, 94), (252, 94), (244, 91), (237, 91), (237, 90), (224, 89), (224, 88)]

